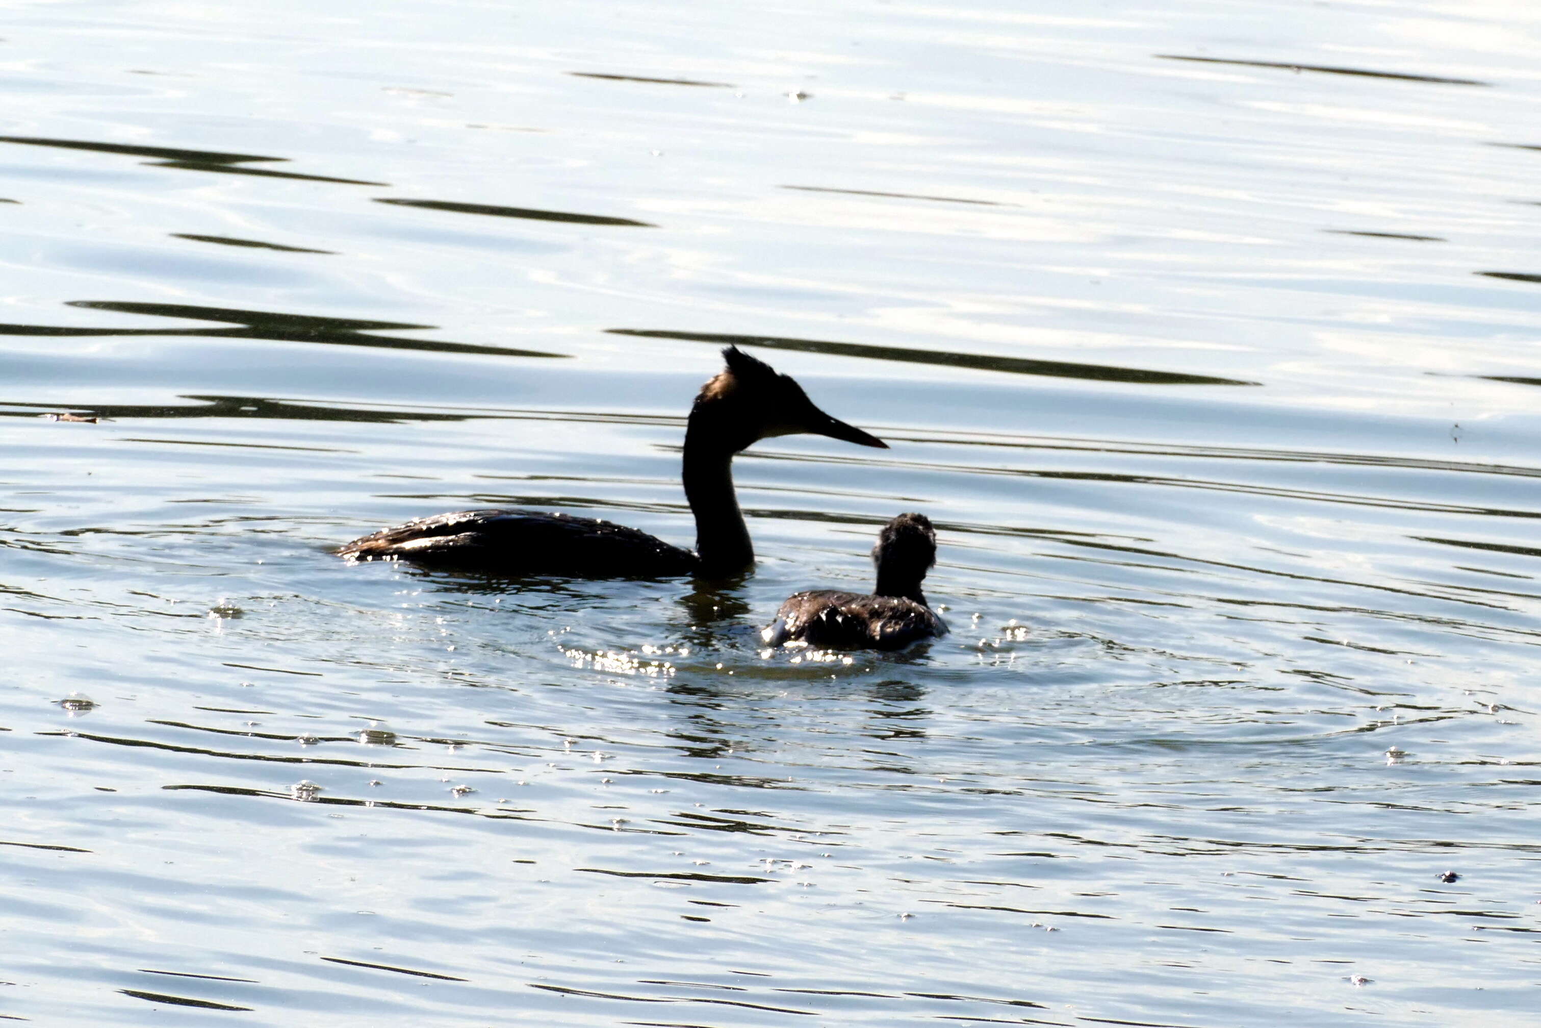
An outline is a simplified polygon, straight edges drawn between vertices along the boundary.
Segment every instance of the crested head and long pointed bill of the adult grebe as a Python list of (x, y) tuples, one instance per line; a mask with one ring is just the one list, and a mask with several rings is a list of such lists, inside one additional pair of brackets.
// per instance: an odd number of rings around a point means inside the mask
[(780, 375), (738, 347), (723, 350), (723, 361), (727, 367), (701, 387), (690, 410), (690, 425), (703, 433), (701, 441), (738, 453), (760, 439), (809, 433), (888, 448), (877, 436), (815, 407), (791, 375)]

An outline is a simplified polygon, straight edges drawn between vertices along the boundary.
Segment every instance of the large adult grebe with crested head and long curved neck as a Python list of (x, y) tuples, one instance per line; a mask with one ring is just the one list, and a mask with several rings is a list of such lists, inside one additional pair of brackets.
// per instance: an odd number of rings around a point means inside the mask
[(353, 561), (404, 559), (493, 575), (573, 578), (727, 578), (755, 563), (734, 493), (734, 455), (760, 439), (811, 433), (888, 448), (875, 436), (814, 407), (803, 387), (738, 347), (701, 387), (684, 430), (684, 495), (695, 515), (695, 552), (626, 526), (539, 510), (461, 510), (418, 518), (353, 539)]

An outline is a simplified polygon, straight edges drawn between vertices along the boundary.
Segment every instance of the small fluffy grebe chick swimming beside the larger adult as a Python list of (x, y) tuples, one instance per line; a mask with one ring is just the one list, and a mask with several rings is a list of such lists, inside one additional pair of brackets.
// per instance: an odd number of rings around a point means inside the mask
[(948, 633), (948, 624), (926, 606), (920, 583), (937, 563), (937, 533), (926, 515), (898, 515), (872, 547), (877, 589), (820, 589), (787, 596), (775, 621), (760, 633), (770, 646), (807, 643), (815, 649), (897, 650)]

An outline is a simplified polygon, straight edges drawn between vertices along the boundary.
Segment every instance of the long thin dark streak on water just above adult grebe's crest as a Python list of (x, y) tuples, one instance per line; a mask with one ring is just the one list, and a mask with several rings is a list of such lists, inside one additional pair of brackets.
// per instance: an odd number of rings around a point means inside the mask
[(687, 342), (729, 344), (737, 347), (766, 347), (767, 350), (795, 350), (798, 353), (828, 353), (841, 358), (868, 358), (872, 361), (901, 361), (906, 364), (934, 364), (979, 371), (1006, 371), (1011, 375), (1046, 375), (1051, 378), (1093, 379), (1099, 382), (1133, 382), (1139, 385), (1259, 385), (1239, 379), (1211, 378), (1208, 375), (1180, 375), (1176, 371), (1145, 371), (1120, 368), (1108, 364), (1071, 364), (1066, 361), (1032, 361), (1028, 358), (991, 356), (983, 353), (949, 353), (945, 350), (908, 350), (900, 347), (874, 347), (860, 342), (829, 342), (824, 339), (783, 339), (778, 336), (737, 336), (704, 331), (666, 331), (661, 328), (606, 328), (613, 336), (641, 336), (646, 339), (684, 339)]

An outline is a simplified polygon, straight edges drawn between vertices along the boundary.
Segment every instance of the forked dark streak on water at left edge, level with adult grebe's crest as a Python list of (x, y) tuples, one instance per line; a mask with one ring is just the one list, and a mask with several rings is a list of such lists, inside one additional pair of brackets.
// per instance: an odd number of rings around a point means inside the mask
[(71, 301), (69, 307), (105, 310), (119, 314), (154, 317), (188, 317), (242, 325), (240, 328), (71, 328), (68, 325), (5, 325), (0, 336), (200, 336), (205, 339), (268, 339), (273, 342), (317, 342), (336, 347), (373, 347), (376, 350), (424, 350), (430, 353), (478, 353), (499, 358), (566, 358), (566, 353), (544, 350), (513, 350), (481, 347), (467, 342), (435, 339), (396, 339), (370, 334), (381, 328), (436, 328), (393, 321), (356, 321), (350, 317), (317, 317), (314, 314), (284, 314), (280, 311), (197, 307), (193, 304), (136, 304), (119, 301)]

